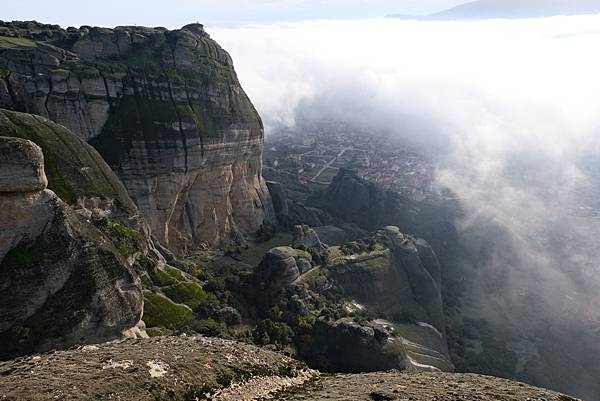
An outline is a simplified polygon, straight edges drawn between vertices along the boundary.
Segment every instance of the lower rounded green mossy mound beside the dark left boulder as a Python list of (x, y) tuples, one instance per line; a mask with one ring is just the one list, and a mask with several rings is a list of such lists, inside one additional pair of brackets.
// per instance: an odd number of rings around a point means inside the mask
[(171, 301), (164, 295), (144, 291), (144, 322), (148, 326), (180, 329), (194, 320), (192, 310)]

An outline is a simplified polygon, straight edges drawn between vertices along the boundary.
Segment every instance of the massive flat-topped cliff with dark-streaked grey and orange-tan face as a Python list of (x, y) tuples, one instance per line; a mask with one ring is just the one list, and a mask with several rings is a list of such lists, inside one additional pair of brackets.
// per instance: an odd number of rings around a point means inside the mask
[(1, 23), (0, 35), (0, 107), (46, 116), (89, 141), (163, 245), (185, 253), (273, 218), (262, 122), (201, 25)]

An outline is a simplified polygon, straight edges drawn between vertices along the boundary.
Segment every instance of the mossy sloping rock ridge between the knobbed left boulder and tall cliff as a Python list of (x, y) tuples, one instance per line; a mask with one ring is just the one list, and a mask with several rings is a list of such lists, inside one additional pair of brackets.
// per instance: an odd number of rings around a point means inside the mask
[[(48, 188), (109, 234), (130, 263), (137, 263), (139, 257), (164, 261), (127, 190), (93, 147), (44, 117), (2, 109), (0, 132), (30, 140), (41, 148)], [(140, 272), (144, 270), (137, 267)]]

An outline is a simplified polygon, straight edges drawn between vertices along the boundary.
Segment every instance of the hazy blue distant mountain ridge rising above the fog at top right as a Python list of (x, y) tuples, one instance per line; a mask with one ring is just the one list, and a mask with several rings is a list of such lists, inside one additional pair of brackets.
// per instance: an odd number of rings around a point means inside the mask
[(597, 13), (600, 13), (600, 0), (477, 0), (427, 16), (407, 17), (395, 14), (389, 17), (423, 20), (476, 20), (540, 18)]

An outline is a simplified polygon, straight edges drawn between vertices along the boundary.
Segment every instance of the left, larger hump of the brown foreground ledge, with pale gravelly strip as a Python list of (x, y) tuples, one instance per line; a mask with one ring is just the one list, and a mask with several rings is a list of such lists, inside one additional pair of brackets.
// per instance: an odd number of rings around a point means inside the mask
[(319, 373), (280, 353), (204, 337), (157, 337), (0, 363), (0, 399), (271, 399)]

